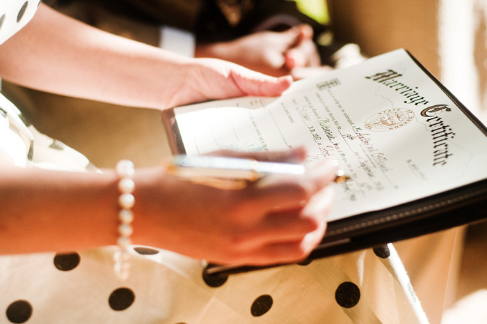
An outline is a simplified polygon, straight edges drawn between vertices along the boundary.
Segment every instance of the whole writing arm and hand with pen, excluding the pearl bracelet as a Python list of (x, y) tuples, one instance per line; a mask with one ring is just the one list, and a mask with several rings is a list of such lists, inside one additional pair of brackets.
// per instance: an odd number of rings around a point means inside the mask
[[(255, 153), (244, 156), (264, 157)], [(273, 153), (289, 160), (303, 151)], [(216, 263), (255, 265), (303, 259), (326, 229), (332, 164), (303, 176), (269, 177), (241, 190), (179, 180), (162, 168), (138, 169), (134, 244)], [(0, 254), (72, 251), (114, 245), (118, 180), (113, 171), (0, 171)]]

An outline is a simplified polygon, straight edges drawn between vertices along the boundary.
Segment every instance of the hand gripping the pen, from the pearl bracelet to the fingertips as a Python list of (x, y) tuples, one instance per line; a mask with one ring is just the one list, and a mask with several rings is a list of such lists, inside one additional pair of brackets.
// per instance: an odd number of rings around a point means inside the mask
[[(303, 150), (218, 154), (287, 162), (305, 155)], [(138, 173), (137, 186), (146, 189), (135, 193), (134, 242), (214, 263), (299, 261), (324, 235), (335, 171), (328, 162), (314, 164), (302, 176), (269, 176), (241, 190)]]

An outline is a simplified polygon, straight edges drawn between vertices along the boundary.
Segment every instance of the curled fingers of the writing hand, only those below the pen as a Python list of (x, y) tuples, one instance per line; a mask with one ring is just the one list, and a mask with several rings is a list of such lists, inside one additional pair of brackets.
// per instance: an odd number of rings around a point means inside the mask
[(232, 230), (230, 260), (264, 265), (305, 258), (324, 236), (334, 199), (328, 183), (335, 172), (333, 163), (323, 162), (310, 167), (304, 176), (276, 177), (250, 187), (246, 199), (250, 206), (246, 207), (255, 213), (246, 214)]

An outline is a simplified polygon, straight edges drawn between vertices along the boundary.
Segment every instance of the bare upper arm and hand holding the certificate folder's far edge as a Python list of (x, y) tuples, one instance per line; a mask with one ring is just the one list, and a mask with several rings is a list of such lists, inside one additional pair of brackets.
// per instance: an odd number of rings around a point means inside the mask
[(42, 3), (33, 20), (0, 46), (0, 75), (42, 91), (157, 109), (214, 98), (279, 95), (292, 82), (114, 36)]

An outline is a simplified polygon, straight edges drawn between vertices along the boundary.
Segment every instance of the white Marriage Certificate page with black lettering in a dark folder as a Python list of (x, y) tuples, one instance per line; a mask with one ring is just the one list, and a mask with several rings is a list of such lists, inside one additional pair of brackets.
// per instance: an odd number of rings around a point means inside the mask
[(294, 82), (279, 98), (174, 112), (188, 155), (305, 146), (307, 165), (337, 160), (351, 180), (335, 185), (330, 221), (487, 178), (486, 134), (402, 49)]

